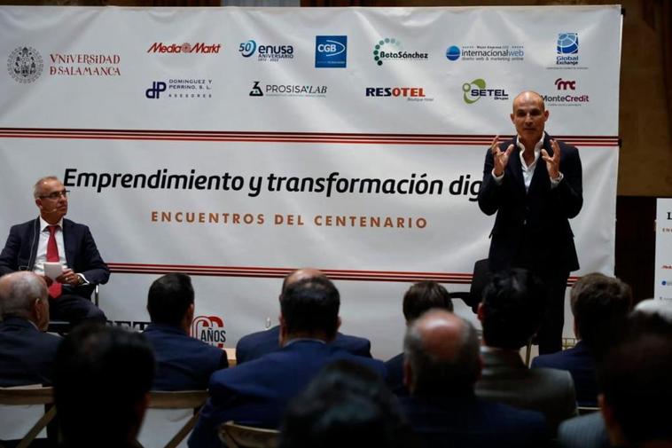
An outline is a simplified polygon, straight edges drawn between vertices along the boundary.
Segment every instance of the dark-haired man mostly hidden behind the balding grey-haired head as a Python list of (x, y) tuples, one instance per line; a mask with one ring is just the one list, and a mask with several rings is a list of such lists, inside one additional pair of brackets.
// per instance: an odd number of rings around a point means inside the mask
[[(420, 281), (409, 288), (403, 295), (403, 317), (406, 326), (419, 318), (425, 311), (433, 308), (452, 311), (453, 303), (445, 287), (435, 281)], [(409, 395), (409, 389), (403, 384), (403, 353), (390, 358), (385, 363), (387, 383), (398, 396)]]

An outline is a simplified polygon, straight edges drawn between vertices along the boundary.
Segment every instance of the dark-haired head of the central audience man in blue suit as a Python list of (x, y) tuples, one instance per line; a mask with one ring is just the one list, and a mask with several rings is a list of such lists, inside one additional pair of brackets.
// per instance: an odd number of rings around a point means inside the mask
[(339, 308), (339, 290), (325, 277), (299, 280), (280, 296), (288, 334), (324, 332), (333, 337), (339, 326)]

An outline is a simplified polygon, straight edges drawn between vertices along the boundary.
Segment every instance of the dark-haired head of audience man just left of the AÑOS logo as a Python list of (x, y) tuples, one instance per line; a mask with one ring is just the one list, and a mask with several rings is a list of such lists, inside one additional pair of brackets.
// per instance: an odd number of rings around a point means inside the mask
[(181, 273), (166, 274), (154, 280), (147, 295), (147, 311), (152, 322), (179, 326), (193, 303), (191, 277)]

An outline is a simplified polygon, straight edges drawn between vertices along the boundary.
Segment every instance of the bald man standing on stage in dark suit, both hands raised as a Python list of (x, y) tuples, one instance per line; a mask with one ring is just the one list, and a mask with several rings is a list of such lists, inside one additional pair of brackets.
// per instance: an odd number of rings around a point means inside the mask
[(524, 91), (513, 99), (517, 135), (492, 141), (478, 197), (483, 213), (497, 214), (490, 233), (490, 271), (525, 268), (547, 287), (537, 334), (541, 354), (562, 348), (567, 279), (579, 269), (569, 219), (583, 205), (579, 152), (544, 131), (548, 118), (538, 93)]

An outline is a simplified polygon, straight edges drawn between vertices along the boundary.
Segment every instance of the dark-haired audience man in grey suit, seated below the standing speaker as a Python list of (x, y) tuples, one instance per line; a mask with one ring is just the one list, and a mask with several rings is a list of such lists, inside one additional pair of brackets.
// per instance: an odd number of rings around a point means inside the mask
[(483, 291), (478, 316), (483, 326), (483, 371), (476, 395), (540, 411), (553, 431), (577, 414), (574, 382), (567, 371), (530, 370), (519, 350), (538, 329), (544, 310), (543, 284), (524, 269), (495, 274)]

